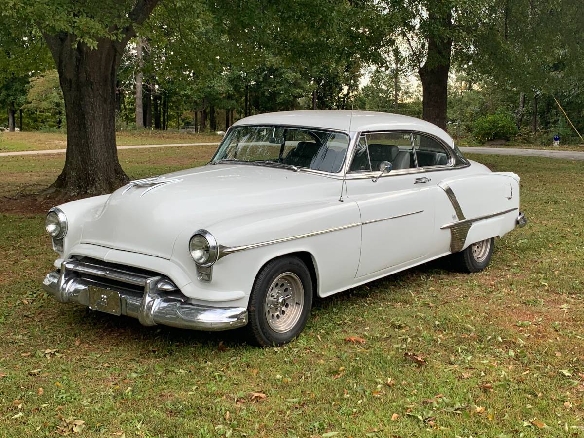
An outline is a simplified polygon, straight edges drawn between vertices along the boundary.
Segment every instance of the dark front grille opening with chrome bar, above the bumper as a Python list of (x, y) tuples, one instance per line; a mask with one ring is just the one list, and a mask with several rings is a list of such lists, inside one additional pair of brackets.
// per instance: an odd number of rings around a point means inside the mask
[(77, 272), (82, 279), (100, 287), (144, 293), (146, 280), (161, 275), (138, 267), (103, 262), (90, 257), (74, 256), (74, 258), (78, 262), (71, 263), (67, 269)]

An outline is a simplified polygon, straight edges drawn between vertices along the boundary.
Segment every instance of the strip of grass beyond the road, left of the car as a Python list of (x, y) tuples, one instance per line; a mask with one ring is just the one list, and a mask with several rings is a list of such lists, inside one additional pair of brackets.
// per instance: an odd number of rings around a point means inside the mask
[[(214, 133), (194, 134), (177, 131), (123, 131), (116, 134), (118, 146), (137, 144), (172, 144), (219, 142), (223, 135)], [(65, 149), (67, 134), (65, 133), (0, 133), (0, 152), (40, 151)]]

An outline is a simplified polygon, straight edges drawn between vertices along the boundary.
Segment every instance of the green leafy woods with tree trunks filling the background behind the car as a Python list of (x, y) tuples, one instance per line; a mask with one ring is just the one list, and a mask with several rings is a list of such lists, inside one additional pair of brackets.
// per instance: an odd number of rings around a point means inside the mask
[(457, 138), (491, 140), (478, 132), (496, 123), (507, 140), (572, 141), (555, 99), (584, 125), (583, 12), (569, 0), (11, 4), (0, 126), (67, 131), (55, 192), (126, 182), (116, 130), (224, 131), (254, 113), (353, 108)]

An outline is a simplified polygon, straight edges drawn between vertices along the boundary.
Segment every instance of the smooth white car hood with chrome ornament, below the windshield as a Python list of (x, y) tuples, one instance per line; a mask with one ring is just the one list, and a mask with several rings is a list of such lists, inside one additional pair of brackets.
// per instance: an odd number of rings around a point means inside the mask
[(212, 232), (213, 224), (239, 215), (338, 196), (341, 184), (314, 173), (227, 164), (137, 180), (85, 221), (81, 242), (170, 259), (186, 228)]

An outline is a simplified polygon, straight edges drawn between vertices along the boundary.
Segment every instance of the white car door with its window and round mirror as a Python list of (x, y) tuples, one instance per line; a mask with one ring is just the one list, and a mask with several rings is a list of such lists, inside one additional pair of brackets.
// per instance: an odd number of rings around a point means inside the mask
[[(392, 170), (380, 175), (381, 162)], [(361, 256), (356, 277), (398, 269), (422, 259), (434, 228), (434, 200), (416, 165), (411, 133), (362, 135), (345, 178), (347, 196), (361, 214)]]

